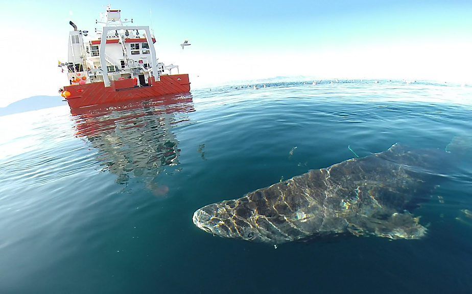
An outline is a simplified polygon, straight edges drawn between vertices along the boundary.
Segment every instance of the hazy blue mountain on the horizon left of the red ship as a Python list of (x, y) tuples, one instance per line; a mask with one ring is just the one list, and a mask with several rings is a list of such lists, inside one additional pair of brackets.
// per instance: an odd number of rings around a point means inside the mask
[(67, 105), (67, 102), (62, 100), (63, 98), (59, 96), (33, 96), (25, 98), (0, 108), (0, 116)]

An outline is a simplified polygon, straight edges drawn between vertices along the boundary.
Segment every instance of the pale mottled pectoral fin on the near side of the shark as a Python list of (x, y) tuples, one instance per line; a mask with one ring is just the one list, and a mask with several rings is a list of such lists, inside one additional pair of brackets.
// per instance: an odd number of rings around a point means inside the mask
[(360, 236), (371, 234), (390, 239), (419, 239), (426, 235), (427, 229), (418, 223), (419, 217), (405, 211), (395, 212), (387, 218), (360, 217), (349, 222), (348, 231)]

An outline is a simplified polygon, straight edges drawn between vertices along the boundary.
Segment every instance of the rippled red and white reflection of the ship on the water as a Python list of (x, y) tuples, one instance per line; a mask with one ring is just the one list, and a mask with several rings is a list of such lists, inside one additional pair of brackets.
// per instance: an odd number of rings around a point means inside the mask
[(155, 177), (166, 169), (179, 171), (179, 141), (172, 128), (188, 122), (188, 113), (194, 111), (191, 94), (71, 109), (76, 136), (100, 150), (97, 159), (102, 171), (116, 174), (117, 183), (143, 180), (161, 195), (168, 188), (157, 185)]

